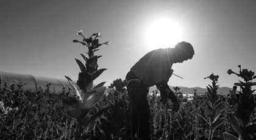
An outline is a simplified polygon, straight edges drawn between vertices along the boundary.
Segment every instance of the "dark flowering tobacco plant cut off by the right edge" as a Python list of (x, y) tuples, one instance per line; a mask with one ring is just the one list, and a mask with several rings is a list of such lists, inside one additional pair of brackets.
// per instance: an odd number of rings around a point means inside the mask
[(234, 84), (235, 86), (233, 89), (236, 89), (236, 86), (240, 86), (241, 91), (239, 92), (239, 97), (233, 96), (233, 100), (235, 100), (237, 104), (235, 114), (228, 114), (233, 130), (238, 134), (238, 138), (228, 132), (224, 132), (223, 135), (226, 140), (256, 139), (256, 119), (251, 118), (254, 108), (256, 107), (256, 103), (252, 95), (255, 91), (252, 90), (252, 86), (256, 85), (256, 82), (252, 82), (252, 80), (256, 79), (256, 76), (254, 75), (254, 72), (248, 71), (248, 69), (241, 70), (241, 65), (239, 65), (238, 68), (240, 68), (239, 73), (233, 72), (231, 69), (227, 71), (229, 75), (235, 74), (244, 80), (244, 82), (239, 80), (239, 83)]

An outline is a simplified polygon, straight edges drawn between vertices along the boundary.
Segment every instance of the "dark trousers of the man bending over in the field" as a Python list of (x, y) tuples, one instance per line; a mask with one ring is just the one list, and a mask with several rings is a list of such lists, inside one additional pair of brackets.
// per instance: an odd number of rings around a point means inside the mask
[[(126, 79), (137, 79), (137, 77), (132, 72), (128, 72)], [(136, 135), (137, 138), (148, 140), (151, 131), (150, 109), (147, 99), (149, 88), (142, 82), (132, 81), (127, 85), (127, 90), (131, 99), (133, 136)]]

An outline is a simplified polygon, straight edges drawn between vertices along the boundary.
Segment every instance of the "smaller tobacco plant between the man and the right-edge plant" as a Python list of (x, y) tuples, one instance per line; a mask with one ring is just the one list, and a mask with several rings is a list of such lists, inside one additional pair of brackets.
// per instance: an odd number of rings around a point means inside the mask
[(223, 118), (221, 116), (224, 111), (222, 110), (224, 107), (224, 102), (222, 102), (221, 97), (219, 97), (217, 94), (217, 89), (219, 88), (219, 85), (216, 85), (218, 83), (218, 78), (219, 75), (214, 74), (211, 74), (205, 78), (212, 80), (212, 85), (207, 86), (208, 100), (203, 98), (207, 105), (205, 107), (205, 117), (199, 114), (202, 121), (208, 125), (208, 139), (210, 140), (213, 139), (215, 130), (223, 124)]

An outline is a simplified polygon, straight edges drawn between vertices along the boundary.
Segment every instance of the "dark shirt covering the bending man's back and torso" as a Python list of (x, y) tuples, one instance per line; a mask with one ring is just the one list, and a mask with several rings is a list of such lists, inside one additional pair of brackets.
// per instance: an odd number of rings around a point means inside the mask
[(148, 87), (159, 82), (168, 82), (172, 74), (173, 53), (172, 48), (148, 52), (130, 71)]

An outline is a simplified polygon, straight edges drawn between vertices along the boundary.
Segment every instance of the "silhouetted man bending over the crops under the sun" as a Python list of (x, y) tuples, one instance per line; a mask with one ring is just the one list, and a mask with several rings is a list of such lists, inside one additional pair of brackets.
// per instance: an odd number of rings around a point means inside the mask
[(156, 85), (161, 102), (167, 99), (173, 103), (173, 111), (179, 110), (179, 101), (168, 86), (172, 75), (172, 64), (193, 58), (194, 49), (190, 43), (180, 42), (174, 48), (156, 49), (144, 55), (127, 73), (126, 80), (132, 106), (132, 133), (138, 138), (150, 139), (150, 110), (147, 100), (149, 87)]

